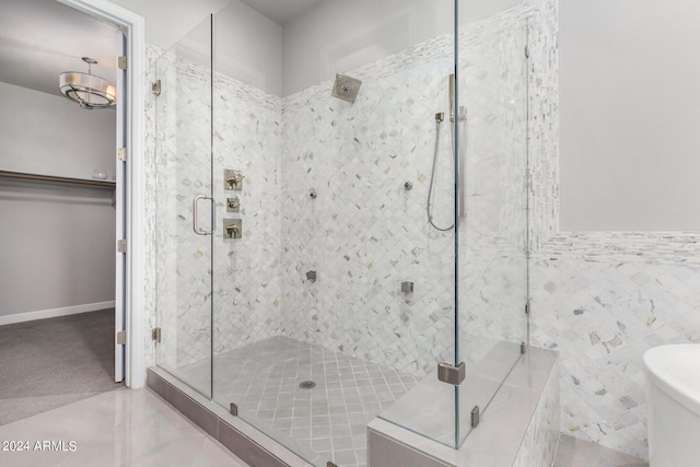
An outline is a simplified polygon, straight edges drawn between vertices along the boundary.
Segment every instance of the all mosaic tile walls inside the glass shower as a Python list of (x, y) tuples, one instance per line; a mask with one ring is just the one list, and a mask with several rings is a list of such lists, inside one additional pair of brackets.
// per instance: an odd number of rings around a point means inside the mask
[[(524, 230), (513, 226), (524, 224), (525, 207), (517, 201), (525, 199), (526, 157), (510, 155), (524, 148), (526, 90), (520, 73), (525, 24), (538, 8), (528, 3), (460, 35), (460, 56), (469, 57), (462, 63), (464, 87), (475, 89), (466, 98), (474, 115), (464, 142), (472, 174), (467, 203), (474, 222), (462, 238), (460, 259), (465, 289), (474, 292), (463, 295), (471, 310), (462, 320), (463, 339), (471, 346), (464, 357), (469, 361), (489, 350), (487, 340), (524, 339)], [(152, 59), (155, 55), (152, 49)], [(451, 57), (451, 38), (440, 37), (355, 70), (364, 84), (352, 106), (328, 96), (330, 83), (282, 102), (217, 78), (217, 219), (230, 215), (244, 222), (243, 240), (214, 238), (214, 250), (225, 253), (214, 258), (218, 352), (282, 334), (416, 376), (432, 371), (438, 360), (451, 360), (454, 234), (429, 227), (425, 218), (440, 131), (434, 218), (440, 225), (452, 220), (450, 131), (434, 120), (436, 112), (448, 112)], [(159, 352), (170, 364), (182, 365), (203, 358), (210, 332), (211, 296), (201, 289), (208, 276), (178, 270), (175, 262), (177, 255), (194, 264), (210, 260), (206, 245), (179, 238), (194, 237), (191, 198), (208, 190), (209, 177), (197, 173), (205, 160), (185, 164), (194, 166), (191, 173), (177, 173), (174, 167), (182, 161), (175, 148), (184, 148), (188, 157), (202, 154), (197, 151), (206, 141), (178, 138), (199, 133), (198, 126), (209, 121), (209, 107), (205, 103), (189, 109), (197, 104), (192, 96), (200, 95), (202, 70), (175, 61), (166, 69), (178, 70), (180, 78), (178, 93), (172, 94), (186, 97), (168, 102), (164, 92), (149, 103), (149, 108), (179, 112), (167, 114), (166, 128), (152, 127), (164, 143), (154, 184), (159, 194), (177, 194), (156, 197), (154, 203), (159, 219), (165, 219), (154, 233), (159, 308), (177, 310), (171, 319), (159, 318), (164, 332), (177, 336), (171, 343), (164, 340)], [(504, 132), (512, 139), (503, 140)], [(224, 192), (217, 185), (223, 167), (242, 168), (246, 175), (241, 214), (224, 213)], [(413, 188), (406, 190), (405, 182)], [(308, 196), (312, 188), (315, 199)], [(316, 282), (305, 279), (312, 269)], [(410, 295), (400, 291), (405, 280), (415, 282)], [(513, 315), (493, 310), (513, 310)], [(175, 342), (176, 351), (167, 347)]]

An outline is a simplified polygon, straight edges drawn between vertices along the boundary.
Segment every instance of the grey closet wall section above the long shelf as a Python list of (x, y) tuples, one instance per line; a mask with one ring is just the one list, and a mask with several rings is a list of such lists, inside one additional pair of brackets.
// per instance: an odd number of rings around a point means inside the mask
[[(58, 78), (57, 78), (58, 81)], [(0, 82), (0, 170), (92, 178), (115, 175), (116, 114)]]

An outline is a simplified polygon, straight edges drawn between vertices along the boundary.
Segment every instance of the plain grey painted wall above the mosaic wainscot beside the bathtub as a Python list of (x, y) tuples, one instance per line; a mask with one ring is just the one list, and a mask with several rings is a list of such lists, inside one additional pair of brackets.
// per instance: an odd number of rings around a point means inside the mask
[(562, 1), (562, 231), (700, 230), (700, 3)]

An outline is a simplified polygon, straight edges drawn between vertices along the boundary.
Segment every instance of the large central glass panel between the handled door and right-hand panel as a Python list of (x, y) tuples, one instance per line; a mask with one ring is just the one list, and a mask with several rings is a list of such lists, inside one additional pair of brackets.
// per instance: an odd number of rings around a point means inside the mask
[(213, 399), (316, 466), (364, 466), (377, 416), (455, 444), (434, 384), (455, 360), (454, 2), (357, 7), (231, 2), (214, 27), (213, 192), (241, 237), (213, 238)]

